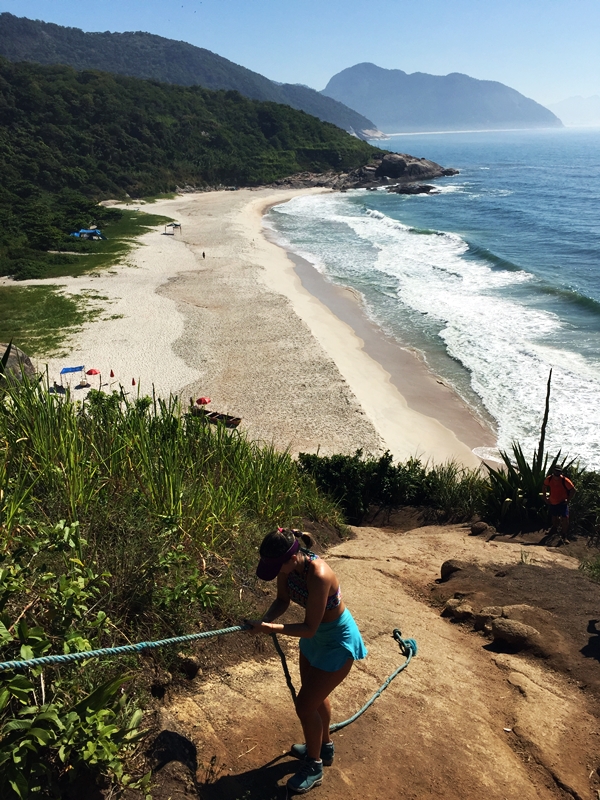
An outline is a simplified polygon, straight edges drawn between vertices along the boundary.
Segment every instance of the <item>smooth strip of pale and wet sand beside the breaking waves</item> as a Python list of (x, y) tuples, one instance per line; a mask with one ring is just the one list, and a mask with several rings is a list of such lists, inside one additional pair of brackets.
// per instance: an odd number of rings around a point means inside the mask
[[(274, 205), (278, 203), (264, 203), (261, 218)], [(290, 295), (294, 310), (333, 358), (392, 455), (398, 460), (420, 456), (479, 466), (482, 459), (472, 450), (496, 443), (489, 426), (416, 353), (368, 318), (354, 290), (327, 280), (306, 259), (277, 243), (264, 224), (262, 234), (292, 262), (296, 281), (312, 300), (304, 304), (300, 292)], [(313, 314), (316, 303), (325, 313)], [(345, 335), (341, 345), (332, 335), (335, 328)], [(374, 392), (379, 396), (374, 398)]]

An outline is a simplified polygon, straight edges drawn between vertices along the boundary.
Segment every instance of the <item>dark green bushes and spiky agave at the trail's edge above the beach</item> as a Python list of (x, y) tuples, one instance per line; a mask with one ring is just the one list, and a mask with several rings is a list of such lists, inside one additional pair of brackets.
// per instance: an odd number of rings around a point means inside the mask
[(411, 458), (394, 464), (389, 453), (380, 458), (318, 456), (300, 453), (300, 469), (314, 478), (353, 525), (380, 514), (419, 506), (436, 512), (435, 518), (469, 521), (481, 517), (503, 531), (517, 532), (548, 527), (550, 516), (543, 499), (544, 478), (560, 464), (577, 487), (570, 502), (570, 531), (597, 544), (600, 539), (600, 473), (574, 464), (565, 465), (560, 454), (553, 459), (539, 451), (527, 461), (519, 445), (514, 460), (502, 453), (505, 469), (466, 469), (453, 462), (423, 464)]

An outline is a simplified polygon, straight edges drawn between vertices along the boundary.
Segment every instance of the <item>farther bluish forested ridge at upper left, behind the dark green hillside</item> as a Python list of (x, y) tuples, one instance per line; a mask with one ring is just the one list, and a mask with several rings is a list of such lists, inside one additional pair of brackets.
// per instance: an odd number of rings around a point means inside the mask
[(181, 86), (234, 89), (253, 100), (283, 103), (363, 136), (371, 120), (308, 86), (279, 84), (203, 47), (150, 33), (85, 33), (0, 14), (0, 55), (10, 61), (68, 64)]

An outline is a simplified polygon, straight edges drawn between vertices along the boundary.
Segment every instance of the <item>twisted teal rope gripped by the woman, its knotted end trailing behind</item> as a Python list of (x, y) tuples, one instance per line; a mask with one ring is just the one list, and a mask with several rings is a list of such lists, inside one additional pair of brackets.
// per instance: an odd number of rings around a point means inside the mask
[[(193, 642), (198, 639), (210, 639), (213, 636), (224, 636), (228, 633), (239, 633), (241, 631), (247, 631), (250, 629), (250, 625), (234, 625), (231, 628), (220, 628), (219, 630), (214, 631), (204, 631), (203, 633), (191, 633), (187, 636), (174, 636), (171, 639), (161, 639), (156, 642), (138, 642), (138, 644), (125, 644), (120, 647), (103, 647), (100, 650), (84, 650), (80, 653), (65, 653), (63, 655), (53, 655), (53, 656), (40, 656), (38, 658), (28, 658), (23, 660), (16, 660), (16, 661), (3, 661), (0, 663), (0, 672), (5, 672), (7, 670), (21, 670), (21, 669), (31, 669), (32, 667), (46, 667), (51, 666), (52, 664), (69, 664), (74, 661), (87, 661), (90, 658), (99, 658), (100, 656), (118, 656), (123, 655), (125, 653), (140, 653), (142, 650), (154, 650), (158, 647), (168, 647), (169, 645), (173, 644), (183, 644), (184, 642)], [(402, 633), (398, 630), (398, 628), (394, 628), (393, 632), (394, 639), (398, 642), (400, 646), (400, 650), (402, 651), (402, 655), (405, 657), (404, 663), (402, 663), (394, 672), (389, 675), (379, 689), (375, 692), (375, 694), (365, 703), (365, 705), (360, 708), (356, 714), (353, 714), (349, 719), (344, 720), (344, 722), (336, 722), (334, 725), (331, 726), (332, 733), (334, 731), (339, 731), (341, 728), (345, 728), (346, 725), (350, 725), (351, 722), (354, 722), (356, 719), (360, 717), (361, 714), (369, 708), (369, 706), (373, 705), (375, 700), (379, 697), (379, 695), (387, 689), (390, 683), (394, 680), (396, 675), (402, 672), (403, 669), (410, 664), (411, 659), (417, 655), (417, 643), (414, 639), (403, 639)], [(272, 635), (273, 643), (275, 645), (275, 649), (279, 654), (279, 658), (281, 659), (281, 664), (283, 667), (283, 672), (285, 675), (285, 680), (292, 695), (292, 699), (296, 700), (296, 690), (294, 689), (294, 685), (292, 683), (292, 679), (287, 667), (287, 661), (283, 650), (277, 640), (275, 634)]]

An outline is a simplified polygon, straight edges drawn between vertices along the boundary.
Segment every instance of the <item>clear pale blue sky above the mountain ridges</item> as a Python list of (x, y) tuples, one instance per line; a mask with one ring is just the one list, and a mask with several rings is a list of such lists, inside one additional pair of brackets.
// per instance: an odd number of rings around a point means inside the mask
[(600, 0), (0, 0), (0, 11), (147, 31), (314, 89), (370, 61), (500, 81), (543, 105), (600, 94)]

